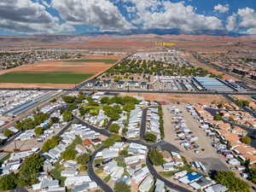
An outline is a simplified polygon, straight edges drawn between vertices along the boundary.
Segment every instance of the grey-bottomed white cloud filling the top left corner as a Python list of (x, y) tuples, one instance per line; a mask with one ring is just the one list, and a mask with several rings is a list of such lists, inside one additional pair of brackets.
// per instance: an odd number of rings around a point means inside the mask
[(0, 28), (12, 32), (56, 33), (73, 31), (73, 26), (60, 24), (45, 7), (30, 0), (0, 2)]

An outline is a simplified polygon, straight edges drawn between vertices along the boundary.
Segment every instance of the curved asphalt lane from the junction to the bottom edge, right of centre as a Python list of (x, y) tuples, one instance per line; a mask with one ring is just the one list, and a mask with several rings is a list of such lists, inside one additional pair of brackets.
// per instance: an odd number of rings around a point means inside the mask
[(160, 174), (154, 170), (154, 166), (152, 165), (152, 163), (151, 163), (150, 160), (148, 159), (148, 156), (147, 156), (147, 158), (146, 158), (146, 164), (147, 164), (147, 166), (148, 166), (148, 170), (149, 170), (149, 172), (151, 173), (151, 175), (153, 175), (153, 177), (155, 177), (155, 178), (160, 179), (160, 180), (161, 180), (162, 182), (164, 182), (164, 183), (166, 184), (166, 186), (168, 186), (169, 188), (175, 189), (175, 190), (181, 191), (181, 192), (191, 192), (191, 190), (185, 189), (185, 188), (183, 188), (183, 187), (181, 187), (181, 186), (179, 186), (179, 185), (177, 185), (177, 184), (175, 184), (175, 183), (172, 183), (172, 182), (168, 181), (166, 178), (161, 177)]

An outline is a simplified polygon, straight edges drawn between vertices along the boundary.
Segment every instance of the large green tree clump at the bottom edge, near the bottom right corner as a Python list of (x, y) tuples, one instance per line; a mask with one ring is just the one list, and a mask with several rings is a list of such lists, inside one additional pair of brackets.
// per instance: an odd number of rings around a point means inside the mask
[(226, 186), (230, 192), (249, 192), (250, 187), (247, 183), (235, 176), (234, 172), (218, 171), (215, 180)]

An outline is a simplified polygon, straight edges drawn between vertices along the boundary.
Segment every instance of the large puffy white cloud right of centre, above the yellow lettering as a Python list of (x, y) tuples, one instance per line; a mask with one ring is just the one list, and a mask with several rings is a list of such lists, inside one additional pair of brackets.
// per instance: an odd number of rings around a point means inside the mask
[[(155, 0), (131, 0), (137, 7), (138, 19), (133, 20), (144, 29), (179, 29), (182, 32), (197, 33), (206, 30), (222, 30), (222, 22), (215, 16), (205, 16), (195, 13), (195, 8), (185, 6), (184, 2), (160, 3)], [(156, 3), (156, 4), (154, 4)], [(151, 13), (148, 8), (162, 6), (163, 11)]]

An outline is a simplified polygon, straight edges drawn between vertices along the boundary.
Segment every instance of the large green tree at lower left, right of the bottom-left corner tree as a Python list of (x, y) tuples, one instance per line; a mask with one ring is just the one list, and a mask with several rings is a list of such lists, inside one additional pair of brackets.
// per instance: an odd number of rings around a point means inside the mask
[(32, 154), (22, 162), (18, 175), (18, 185), (28, 186), (38, 183), (38, 172), (43, 171), (44, 157)]

